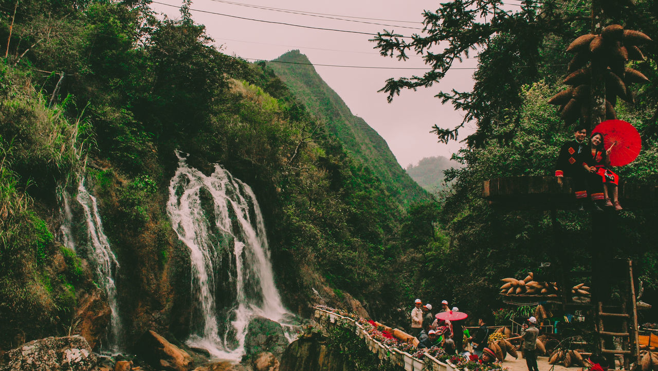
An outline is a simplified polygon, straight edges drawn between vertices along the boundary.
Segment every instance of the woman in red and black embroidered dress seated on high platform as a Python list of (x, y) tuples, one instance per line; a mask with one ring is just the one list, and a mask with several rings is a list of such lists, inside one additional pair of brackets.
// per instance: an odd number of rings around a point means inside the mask
[(607, 150), (603, 147), (603, 134), (595, 132), (590, 138), (590, 151), (584, 151), (582, 165), (586, 171), (595, 173), (601, 177), (603, 182), (603, 194), (605, 197), (605, 206), (614, 206), (615, 210), (622, 210), (619, 204), (617, 186), (619, 185), (619, 175), (615, 174), (610, 167), (608, 155), (612, 146)]

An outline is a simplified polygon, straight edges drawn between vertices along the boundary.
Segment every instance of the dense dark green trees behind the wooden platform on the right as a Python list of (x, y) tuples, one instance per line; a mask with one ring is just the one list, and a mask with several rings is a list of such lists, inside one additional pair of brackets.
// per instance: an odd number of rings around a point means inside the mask
[[(446, 171), (453, 188), (443, 194), (441, 213), (430, 220), (438, 223), (438, 234), (449, 236), (443, 243), (421, 245), (415, 279), (418, 291), (437, 302), (448, 299), (462, 310), (490, 314), (500, 304), (497, 287), (502, 277), (524, 277), (540, 262), (553, 262), (565, 271), (589, 270), (591, 266), (592, 219), (583, 212), (559, 211), (559, 226), (553, 230), (549, 212), (497, 210), (482, 199), (482, 182), (494, 177), (552, 175), (559, 146), (569, 140), (571, 129), (564, 127), (554, 106), (547, 100), (563, 90), (561, 80), (571, 55), (564, 50), (577, 36), (590, 29), (589, 5), (554, 1), (527, 1), (505, 11), (500, 1), (453, 1), (436, 12), (426, 12), (431, 36), (409, 42), (382, 34), (382, 54), (421, 53), (434, 71), (411, 79), (388, 80), (384, 90), (393, 98), (400, 89), (431, 86), (443, 77), (453, 59), (467, 51), (478, 53), (472, 92), (441, 92), (438, 98), (450, 101), (466, 112), (476, 132), (468, 147), (455, 154), (465, 167)], [(486, 17), (479, 15), (487, 14)], [(636, 7), (611, 14), (605, 22), (622, 22), (658, 39), (655, 7), (638, 1)], [(447, 43), (445, 43), (447, 42)], [(448, 45), (442, 53), (429, 53), (429, 45)], [(658, 183), (658, 149), (655, 112), (658, 80), (656, 46), (642, 48), (646, 62), (630, 63), (651, 82), (638, 88), (636, 105), (618, 103), (620, 119), (640, 130), (643, 150), (631, 165), (615, 169), (629, 183)], [(513, 56), (513, 57), (511, 57)], [(457, 137), (455, 129), (436, 128), (442, 140)], [(514, 202), (511, 200), (510, 202)], [(514, 206), (514, 205), (512, 205)], [(636, 274), (645, 287), (643, 300), (657, 299), (655, 270), (655, 209), (636, 209), (609, 217), (611, 228), (605, 245), (596, 246), (609, 257), (634, 258)], [(594, 267), (595, 270), (603, 269)], [(614, 276), (609, 271), (609, 276)], [(654, 301), (655, 302), (655, 301)]]

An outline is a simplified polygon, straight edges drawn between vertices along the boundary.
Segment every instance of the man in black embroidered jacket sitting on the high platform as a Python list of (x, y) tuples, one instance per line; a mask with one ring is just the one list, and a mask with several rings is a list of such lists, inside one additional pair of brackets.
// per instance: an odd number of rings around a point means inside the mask
[(578, 210), (584, 209), (584, 201), (587, 200), (589, 192), (592, 199), (592, 208), (601, 211), (601, 208), (596, 204), (596, 202), (603, 200), (601, 181), (594, 179), (590, 173), (587, 173), (582, 167), (582, 161), (578, 161), (582, 156), (582, 152), (590, 150), (585, 142), (586, 136), (587, 129), (582, 125), (576, 125), (574, 140), (569, 140), (560, 148), (560, 154), (555, 165), (555, 176), (570, 177), (572, 179), (576, 200), (578, 200)]

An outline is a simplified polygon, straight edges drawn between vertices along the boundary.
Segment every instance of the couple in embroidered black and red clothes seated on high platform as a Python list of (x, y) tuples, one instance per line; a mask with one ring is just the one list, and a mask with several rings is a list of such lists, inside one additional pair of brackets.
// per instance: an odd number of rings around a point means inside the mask
[[(619, 176), (610, 169), (612, 146), (603, 148), (603, 134), (595, 132), (586, 142), (587, 129), (576, 126), (574, 140), (563, 144), (555, 165), (556, 177), (570, 177), (578, 200), (578, 210), (590, 208), (602, 211), (601, 206), (622, 210), (619, 204)], [(614, 146), (614, 144), (613, 144)], [(589, 201), (588, 201), (589, 194)]]

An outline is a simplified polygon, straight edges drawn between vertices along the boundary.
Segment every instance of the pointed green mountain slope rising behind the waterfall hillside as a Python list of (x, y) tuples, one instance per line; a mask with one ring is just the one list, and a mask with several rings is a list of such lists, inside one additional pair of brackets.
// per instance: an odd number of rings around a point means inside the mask
[(274, 59), (289, 63), (267, 63), (283, 80), (297, 99), (326, 120), (326, 127), (355, 159), (367, 165), (384, 183), (386, 190), (400, 204), (422, 198), (426, 192), (397, 163), (388, 144), (373, 128), (351, 113), (345, 102), (330, 88), (307, 57), (299, 50), (289, 51)]

